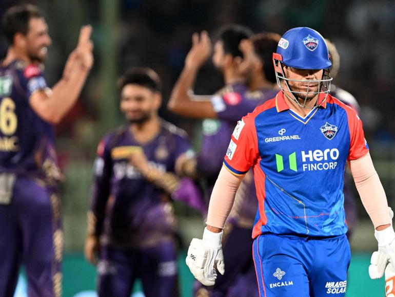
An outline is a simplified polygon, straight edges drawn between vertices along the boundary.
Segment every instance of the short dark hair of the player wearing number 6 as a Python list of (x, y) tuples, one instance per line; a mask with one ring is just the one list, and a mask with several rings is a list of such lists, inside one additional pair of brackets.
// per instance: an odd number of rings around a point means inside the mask
[(7, 41), (12, 44), (14, 35), (18, 32), (26, 35), (29, 31), (31, 18), (44, 18), (42, 11), (35, 5), (23, 4), (10, 7), (3, 16), (3, 33)]

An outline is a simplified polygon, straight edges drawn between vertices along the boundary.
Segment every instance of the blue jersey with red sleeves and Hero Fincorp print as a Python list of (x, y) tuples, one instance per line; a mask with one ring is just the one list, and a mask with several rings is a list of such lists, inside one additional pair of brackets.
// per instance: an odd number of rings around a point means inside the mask
[(336, 236), (347, 232), (343, 178), (347, 161), (368, 153), (356, 112), (328, 95), (306, 117), (294, 113), (283, 92), (236, 126), (225, 166), (233, 174), (253, 168), (259, 207), (252, 236)]

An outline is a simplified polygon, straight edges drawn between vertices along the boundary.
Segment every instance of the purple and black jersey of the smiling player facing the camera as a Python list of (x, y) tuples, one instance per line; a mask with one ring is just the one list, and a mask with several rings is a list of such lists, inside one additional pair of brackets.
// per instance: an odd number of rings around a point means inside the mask
[(153, 246), (172, 236), (169, 195), (143, 177), (128, 156), (143, 150), (150, 166), (174, 172), (176, 158), (189, 149), (186, 133), (165, 121), (160, 133), (145, 144), (137, 142), (127, 126), (109, 133), (98, 145), (94, 166), (95, 235), (104, 234), (112, 245), (125, 247)]

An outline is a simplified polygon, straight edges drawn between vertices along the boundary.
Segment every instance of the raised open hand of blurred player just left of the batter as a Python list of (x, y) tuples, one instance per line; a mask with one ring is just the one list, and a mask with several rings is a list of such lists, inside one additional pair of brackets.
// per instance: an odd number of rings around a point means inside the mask
[(211, 54), (211, 40), (207, 31), (193, 33), (192, 48), (185, 58), (185, 67), (200, 68), (207, 61)]

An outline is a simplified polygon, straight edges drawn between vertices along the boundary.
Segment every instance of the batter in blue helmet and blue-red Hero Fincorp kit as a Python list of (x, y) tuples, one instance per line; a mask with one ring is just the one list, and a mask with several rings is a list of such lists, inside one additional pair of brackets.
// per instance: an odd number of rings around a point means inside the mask
[[(239, 121), (215, 183), (203, 239), (192, 239), (187, 265), (203, 284), (225, 270), (221, 237), (244, 175), (253, 169), (258, 212), (253, 258), (261, 296), (344, 296), (350, 248), (343, 176), (349, 164), (379, 243), (369, 275), (394, 257), (395, 233), (362, 122), (330, 96), (325, 40), (307, 27), (281, 38), (273, 63), (281, 91)], [(211, 259), (214, 259), (213, 261)]]

